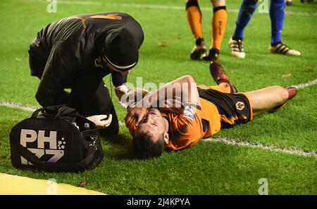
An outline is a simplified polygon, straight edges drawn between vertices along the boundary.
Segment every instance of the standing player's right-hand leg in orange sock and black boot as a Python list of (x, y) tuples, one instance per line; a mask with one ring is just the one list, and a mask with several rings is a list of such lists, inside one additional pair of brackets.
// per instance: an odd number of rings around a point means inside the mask
[(227, 11), (225, 0), (211, 0), (213, 4), (213, 18), (211, 22), (211, 48), (209, 54), (204, 60), (217, 61), (219, 59), (219, 50), (225, 35), (225, 26), (227, 25)]

